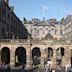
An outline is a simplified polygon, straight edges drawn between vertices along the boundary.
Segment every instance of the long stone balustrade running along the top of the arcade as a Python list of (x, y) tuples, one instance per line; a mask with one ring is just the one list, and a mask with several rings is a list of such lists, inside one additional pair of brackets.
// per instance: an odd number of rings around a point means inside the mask
[(67, 43), (64, 40), (39, 40), (39, 39), (0, 39), (0, 43)]

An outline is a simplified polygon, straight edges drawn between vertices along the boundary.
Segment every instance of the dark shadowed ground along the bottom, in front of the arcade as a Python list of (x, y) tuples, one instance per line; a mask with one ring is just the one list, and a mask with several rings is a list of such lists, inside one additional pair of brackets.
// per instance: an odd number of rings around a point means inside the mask
[[(52, 72), (52, 71), (49, 71), (49, 70), (46, 70), (45, 68), (32, 68), (30, 70), (24, 70), (24, 69), (17, 69), (17, 70), (10, 70), (10, 69), (0, 69), (0, 72)], [(61, 69), (56, 69), (55, 72), (65, 72)], [(68, 70), (67, 72), (72, 72), (72, 69)]]

